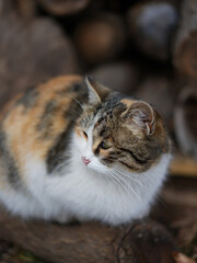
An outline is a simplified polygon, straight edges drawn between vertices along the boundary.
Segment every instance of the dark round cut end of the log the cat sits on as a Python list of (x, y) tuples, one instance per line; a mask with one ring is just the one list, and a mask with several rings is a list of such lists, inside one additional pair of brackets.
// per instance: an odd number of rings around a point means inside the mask
[(140, 220), (124, 237), (118, 255), (119, 262), (173, 263), (171, 254), (176, 250), (172, 236), (164, 227), (152, 220)]

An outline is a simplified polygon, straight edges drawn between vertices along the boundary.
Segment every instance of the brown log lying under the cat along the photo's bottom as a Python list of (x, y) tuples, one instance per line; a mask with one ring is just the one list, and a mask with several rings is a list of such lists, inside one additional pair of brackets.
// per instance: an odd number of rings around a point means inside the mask
[(56, 263), (173, 263), (177, 250), (166, 229), (151, 219), (116, 228), (96, 222), (62, 226), (23, 221), (1, 209), (0, 238)]

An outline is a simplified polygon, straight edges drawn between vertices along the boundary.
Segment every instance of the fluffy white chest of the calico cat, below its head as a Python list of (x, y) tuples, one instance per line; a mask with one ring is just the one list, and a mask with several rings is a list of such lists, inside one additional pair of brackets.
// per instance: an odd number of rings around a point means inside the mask
[(124, 181), (123, 186), (123, 181), (119, 183), (85, 167), (76, 152), (67, 174), (48, 179), (48, 194), (59, 204), (59, 214), (65, 213), (66, 220), (76, 217), (124, 224), (149, 211), (165, 178), (169, 160), (170, 156), (163, 156), (148, 173), (130, 174), (130, 180)]

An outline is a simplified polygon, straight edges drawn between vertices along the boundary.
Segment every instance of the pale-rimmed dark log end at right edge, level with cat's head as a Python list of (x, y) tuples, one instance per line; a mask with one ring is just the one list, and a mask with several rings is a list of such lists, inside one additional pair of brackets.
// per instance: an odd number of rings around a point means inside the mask
[(197, 160), (197, 89), (188, 83), (174, 108), (174, 130), (181, 150)]

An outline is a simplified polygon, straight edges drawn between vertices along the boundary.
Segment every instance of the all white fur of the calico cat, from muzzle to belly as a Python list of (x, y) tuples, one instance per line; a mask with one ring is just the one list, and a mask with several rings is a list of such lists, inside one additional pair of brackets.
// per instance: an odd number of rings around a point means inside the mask
[[(0, 191), (5, 206), (25, 218), (65, 222), (73, 217), (118, 225), (147, 215), (165, 178), (170, 155), (163, 155), (157, 165), (143, 173), (129, 173), (118, 167), (111, 169), (92, 152), (92, 127), (86, 133), (88, 141), (77, 134), (72, 135), (71, 159), (62, 174), (47, 174), (44, 162), (26, 156), (28, 191)], [(81, 157), (91, 162), (85, 165)]]

